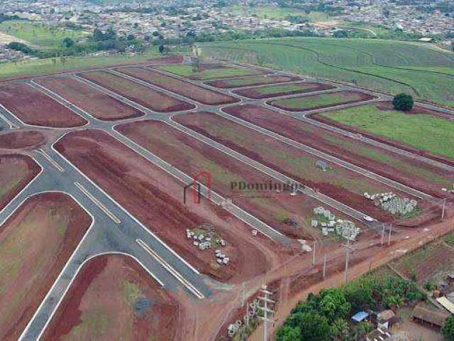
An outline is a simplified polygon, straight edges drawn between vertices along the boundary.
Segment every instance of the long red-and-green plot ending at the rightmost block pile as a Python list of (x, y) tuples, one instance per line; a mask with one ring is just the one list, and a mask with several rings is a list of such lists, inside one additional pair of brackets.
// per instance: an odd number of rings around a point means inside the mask
[(328, 170), (322, 170), (316, 166), (320, 158), (211, 112), (185, 114), (175, 117), (175, 121), (356, 210), (380, 220), (391, 218), (363, 195), (392, 191), (382, 183), (333, 163), (328, 163)]

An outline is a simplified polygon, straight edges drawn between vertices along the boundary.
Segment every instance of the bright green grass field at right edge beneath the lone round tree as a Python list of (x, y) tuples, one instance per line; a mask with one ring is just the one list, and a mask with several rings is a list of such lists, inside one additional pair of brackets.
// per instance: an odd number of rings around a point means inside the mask
[(454, 159), (454, 121), (364, 105), (321, 115), (378, 136)]

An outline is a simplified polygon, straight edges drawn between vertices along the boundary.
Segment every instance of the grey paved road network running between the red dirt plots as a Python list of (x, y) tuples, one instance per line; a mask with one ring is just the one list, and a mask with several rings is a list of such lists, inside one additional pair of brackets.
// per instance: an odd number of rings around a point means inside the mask
[[(240, 99), (240, 103), (226, 104), (221, 107), (209, 106), (199, 104), (191, 99), (187, 99), (186, 97), (175, 94), (173, 92), (162, 90), (160, 87), (156, 87), (155, 85), (150, 85), (146, 82), (136, 80), (131, 76), (123, 75), (122, 73), (117, 72), (115, 70), (109, 69), (109, 71), (117, 75), (121, 75), (122, 77), (125, 77), (129, 80), (138, 82), (139, 84), (145, 85), (150, 89), (155, 89), (159, 90), (160, 92), (170, 94), (174, 97), (182, 99), (185, 102), (192, 103), (194, 104), (194, 106), (196, 106), (195, 109), (179, 112), (178, 114), (184, 114), (185, 112), (192, 112), (195, 110), (206, 110), (216, 112), (216, 114), (219, 114), (228, 119), (232, 119), (233, 121), (237, 121), (238, 123), (248, 126), (248, 128), (250, 129), (260, 131), (262, 134), (266, 134), (267, 136), (272, 136), (273, 138), (278, 139), (279, 141), (282, 141), (285, 144), (289, 144), (290, 146), (293, 146), (295, 148), (300, 148), (309, 153), (314, 153), (320, 158), (325, 158), (328, 161), (337, 163), (340, 166), (348, 168), (352, 171), (368, 176), (370, 178), (374, 178), (377, 181), (380, 181), (394, 188), (402, 190), (403, 192), (415, 195), (417, 197), (423, 197), (424, 199), (427, 200), (431, 199), (430, 195), (427, 195), (426, 193), (421, 193), (413, 188), (409, 188), (408, 186), (381, 177), (380, 175), (373, 174), (370, 171), (367, 171), (363, 168), (359, 168), (358, 166), (354, 166), (339, 158), (328, 156), (327, 154), (316, 150), (316, 148), (311, 148), (309, 146), (305, 146), (304, 144), (299, 144), (296, 141), (284, 138), (284, 136), (279, 136), (278, 134), (272, 133), (271, 131), (267, 131), (266, 129), (262, 129), (253, 124), (249, 124), (248, 122), (235, 119), (230, 115), (223, 113), (220, 110), (220, 108), (238, 105), (241, 103), (267, 105), (265, 103), (267, 99), (258, 100), (245, 99), (244, 97), (240, 97), (237, 94), (233, 94), (231, 90), (220, 90), (215, 87), (210, 87), (209, 85), (204, 84), (204, 82), (202, 81), (187, 80), (186, 78), (178, 77), (176, 75), (169, 74), (168, 72), (158, 70), (158, 72), (162, 72), (163, 74), (172, 75), (173, 77), (182, 79), (184, 81), (192, 82), (193, 84), (206, 87), (207, 89), (216, 90), (218, 92), (222, 92), (224, 94), (228, 94)], [(272, 71), (275, 72), (275, 70)], [(286, 74), (285, 72), (277, 73), (282, 75)], [(140, 154), (140, 156), (147, 158), (150, 162), (154, 163), (167, 173), (170, 173), (172, 176), (182, 181), (182, 183), (192, 182), (192, 178), (189, 175), (182, 173), (177, 168), (171, 166), (170, 164), (166, 163), (162, 159), (155, 156), (153, 153), (146, 151), (144, 148), (138, 146), (133, 141), (126, 138), (126, 136), (121, 135), (114, 129), (114, 126), (119, 123), (125, 123), (129, 121), (140, 121), (143, 119), (157, 119), (160, 121), (164, 121), (165, 123), (170, 124), (171, 126), (174, 126), (176, 129), (183, 131), (185, 134), (189, 134), (190, 136), (193, 136), (194, 138), (199, 139), (200, 141), (203, 141), (204, 143), (209, 144), (214, 148), (217, 148), (218, 150), (232, 156), (233, 158), (237, 158), (239, 161), (246, 163), (249, 166), (257, 168), (263, 173), (270, 175), (279, 181), (282, 182), (293, 181), (292, 178), (282, 175), (281, 173), (274, 171), (272, 168), (266, 167), (261, 163), (254, 161), (253, 159), (247, 158), (246, 156), (243, 156), (242, 154), (237, 153), (236, 151), (233, 151), (230, 148), (226, 148), (225, 146), (218, 144), (215, 141), (212, 141), (211, 139), (206, 138), (205, 136), (197, 134), (191, 129), (187, 129), (184, 126), (177, 124), (175, 121), (172, 121), (171, 115), (169, 114), (160, 114), (158, 112), (153, 112), (153, 110), (145, 108), (142, 105), (135, 103), (130, 99), (127, 99), (119, 94), (106, 90), (104, 87), (96, 85), (95, 83), (90, 82), (89, 80), (84, 80), (83, 78), (72, 73), (67, 73), (67, 75), (70, 75), (76, 78), (77, 80), (80, 80), (81, 82), (85, 82), (94, 87), (95, 89), (100, 90), (101, 92), (109, 94), (111, 97), (114, 97), (116, 99), (121, 100), (122, 102), (125, 102), (126, 104), (131, 105), (131, 107), (134, 107), (135, 109), (140, 110), (140, 112), (143, 112), (143, 117), (122, 119), (116, 122), (102, 121), (100, 119), (92, 117), (92, 115), (90, 115), (87, 112), (84, 112), (84, 110), (80, 109), (76, 105), (58, 96), (57, 94), (55, 94), (55, 92), (52, 92), (46, 89), (45, 87), (38, 85), (37, 83), (33, 82), (33, 80), (29, 80), (28, 82), (31, 86), (35, 87), (40, 91), (43, 91), (45, 94), (57, 100), (58, 102), (66, 105), (67, 107), (70, 107), (70, 109), (72, 109), (80, 116), (84, 117), (84, 119), (87, 119), (87, 121), (89, 122), (87, 126), (84, 126), (82, 128), (79, 127), (75, 129), (56, 129), (57, 131), (60, 131), (57, 137), (61, 137), (68, 131), (73, 131), (77, 129), (102, 129), (106, 132), (109, 132), (109, 134), (114, 136), (123, 144), (126, 144), (126, 146), (132, 148), (135, 152)], [(348, 87), (342, 86), (340, 87), (340, 89), (348, 89)], [(328, 91), (331, 92), (334, 90)], [(382, 94), (378, 94), (378, 97), (379, 97), (378, 100), (387, 99)], [(345, 107), (351, 107), (353, 105), (358, 104), (348, 104)], [(273, 109), (276, 110), (276, 108)], [(285, 114), (289, 113), (285, 112)], [(301, 119), (303, 121), (306, 121), (309, 124), (315, 125), (320, 124), (320, 122), (305, 117), (305, 114), (307, 114), (307, 112), (304, 114), (294, 113), (290, 115), (293, 117), (297, 117), (298, 119)], [(20, 119), (15, 117), (6, 108), (1, 106), (0, 106), (0, 121), (2, 122), (1, 123), (2, 126), (4, 126), (4, 129), (17, 129), (20, 126), (28, 126), (27, 124), (23, 124), (23, 122)], [(339, 134), (345, 134), (347, 136), (348, 134), (350, 134), (349, 132), (342, 131), (341, 129), (336, 129), (334, 127), (327, 125), (324, 126), (321, 125), (321, 127), (323, 129), (329, 130), (334, 129), (333, 131), (336, 131)], [(381, 148), (387, 149), (391, 148), (389, 150), (392, 150), (395, 153), (402, 153), (402, 155), (404, 156), (420, 158), (419, 156), (414, 156), (414, 154), (402, 151), (399, 148), (391, 147), (389, 145), (384, 146), (377, 145), (376, 144), (377, 141), (373, 140), (368, 141), (367, 139), (365, 139), (364, 141), (367, 143), (375, 144), (376, 146), (380, 146)], [(72, 197), (74, 197), (74, 200), (77, 200), (77, 202), (79, 202), (79, 204), (82, 205), (82, 207), (84, 207), (90, 213), (90, 215), (92, 215), (93, 224), (92, 227), (90, 227), (87, 234), (85, 235), (84, 239), (82, 239), (82, 242), (79, 244), (79, 247), (77, 247), (77, 249), (74, 251), (74, 254), (72, 254), (70, 261), (67, 262), (65, 269), (63, 269), (62, 273), (57, 278), (57, 281), (55, 281), (55, 284), (54, 286), (52, 286), (50, 292), (48, 293), (48, 296), (46, 296), (45, 300), (40, 305), (40, 308), (38, 308), (37, 312), (33, 316), (33, 319), (31, 320), (31, 323), (29, 323), (27, 329), (23, 332), (23, 335), (21, 336), (22, 340), (38, 340), (41, 332), (43, 332), (45, 328), (45, 325), (50, 320), (52, 313), (57, 308), (57, 305), (60, 303), (65, 292), (69, 288), (70, 283), (76, 276), (77, 271), (79, 271), (80, 267), (82, 266), (82, 264), (84, 264), (85, 261), (87, 261), (87, 259), (90, 259), (92, 256), (95, 256), (96, 254), (102, 254), (105, 252), (122, 252), (130, 254), (131, 256), (134, 256), (136, 259), (138, 259), (138, 261), (140, 261), (140, 263), (143, 264), (143, 266), (145, 266), (145, 268), (148, 269), (148, 271), (150, 271), (150, 273), (152, 273), (155, 276), (155, 278), (157, 278), (157, 281), (161, 281), (162, 283), (164, 283), (164, 286), (166, 288), (168, 288), (169, 290), (175, 290), (176, 288), (184, 287), (187, 290), (187, 293), (192, 296), (198, 295), (201, 297), (209, 296), (211, 294), (211, 291), (209, 289), (210, 285), (214, 286), (221, 285), (221, 283), (217, 283), (216, 281), (213, 281), (207, 278), (206, 276), (201, 276), (198, 273), (198, 271), (196, 271), (196, 269), (194, 269), (190, 264), (187, 263), (187, 261), (179, 257), (177, 254), (175, 254), (172, 251), (172, 249), (170, 249), (162, 241), (160, 241), (158, 236), (154, 235), (152, 232), (150, 232), (150, 230), (144, 227), (143, 224), (141, 224), (138, 220), (135, 219), (135, 217), (130, 215), (123, 207), (121, 207), (121, 205), (119, 205), (116, 202), (116, 200), (114, 200), (107, 193), (105, 193), (104, 190), (99, 188), (96, 185), (96, 183), (92, 182), (92, 180), (87, 178), (87, 176), (85, 176), (77, 168), (72, 166), (72, 164), (69, 161), (67, 161), (62, 155), (60, 155), (60, 153), (57, 153), (57, 151), (53, 150), (50, 147), (46, 147), (43, 148), (42, 151), (34, 151), (33, 157), (38, 163), (40, 163), (40, 165), (43, 168), (43, 172), (40, 173), (40, 175), (38, 175), (38, 177), (35, 178), (35, 180), (33, 180), (33, 182), (30, 183), (30, 185), (28, 185), (26, 189), (24, 189), (17, 197), (15, 197), (10, 202), (10, 204), (4, 208), (4, 210), (1, 210), (0, 223), (3, 223), (11, 214), (13, 214), (13, 212), (17, 210), (17, 208), (28, 197), (31, 197), (32, 195), (35, 195), (37, 193), (42, 193), (44, 191), (60, 191), (72, 195)], [(421, 159), (421, 161), (433, 162), (430, 160), (423, 159)], [(441, 164), (438, 166), (443, 166), (444, 168), (446, 165)], [(204, 186), (202, 186), (202, 194), (208, 195), (207, 188)], [(301, 195), (309, 195), (311, 197), (315, 197), (316, 200), (324, 202), (326, 203), (326, 205), (331, 205), (332, 207), (335, 207), (336, 209), (341, 210), (346, 214), (357, 219), (361, 219), (361, 217), (363, 216), (362, 212), (358, 212), (357, 210), (354, 210), (352, 207), (343, 205), (341, 202), (337, 202), (336, 200), (333, 200), (331, 197), (327, 197), (322, 193), (318, 194), (313, 193), (313, 191), (309, 188), (304, 188), (303, 190), (301, 190)], [(214, 202), (216, 202), (217, 204), (221, 204), (224, 201), (224, 197), (218, 193), (212, 193), (212, 200), (214, 200)], [(287, 237), (284, 237), (282, 234), (275, 231), (275, 229), (261, 222), (253, 215), (250, 215), (248, 212), (245, 212), (245, 210), (242, 210), (240, 207), (236, 205), (227, 205), (226, 210), (231, 212), (233, 215), (236, 215), (236, 217), (238, 217), (239, 219), (247, 222), (255, 229), (258, 229), (260, 232), (267, 235), (268, 237), (276, 239), (277, 241), (282, 242), (284, 244), (290, 242), (289, 239), (287, 239)], [(150, 227), (150, 229), (153, 230), (153, 227)], [(142, 245), (136, 242), (138, 239), (143, 241), (145, 245), (148, 245), (148, 247), (150, 247), (150, 249), (153, 250), (156, 256), (150, 254), (149, 251), (147, 251)], [(181, 277), (179, 276), (185, 278), (186, 282), (182, 281)]]

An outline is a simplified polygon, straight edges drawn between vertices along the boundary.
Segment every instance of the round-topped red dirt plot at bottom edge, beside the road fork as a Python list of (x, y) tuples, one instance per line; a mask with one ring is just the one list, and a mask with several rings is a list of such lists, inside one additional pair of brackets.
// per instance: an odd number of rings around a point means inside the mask
[[(128, 295), (125, 283), (133, 283), (140, 290), (140, 297), (133, 301), (125, 297)], [(150, 302), (143, 313), (135, 310), (140, 300)], [(109, 318), (106, 330), (100, 332), (89, 324), (89, 314), (94, 311), (99, 312), (99, 318)], [(128, 337), (126, 340), (182, 340), (177, 335), (182, 318), (184, 310), (175, 298), (134, 259), (105, 254), (84, 264), (45, 330), (43, 340), (96, 337), (99, 341), (110, 341), (114, 335)], [(79, 326), (83, 329), (76, 332)]]

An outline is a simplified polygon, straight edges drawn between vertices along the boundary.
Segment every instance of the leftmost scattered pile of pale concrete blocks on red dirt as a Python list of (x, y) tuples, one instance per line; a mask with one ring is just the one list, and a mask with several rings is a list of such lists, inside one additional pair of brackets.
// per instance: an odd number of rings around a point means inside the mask
[[(226, 241), (216, 234), (216, 230), (211, 224), (201, 224), (195, 229), (186, 229), (187, 239), (192, 239), (192, 244), (199, 250), (204, 251), (211, 247), (225, 247)], [(228, 265), (230, 258), (221, 250), (214, 251), (214, 257), (219, 265)]]

